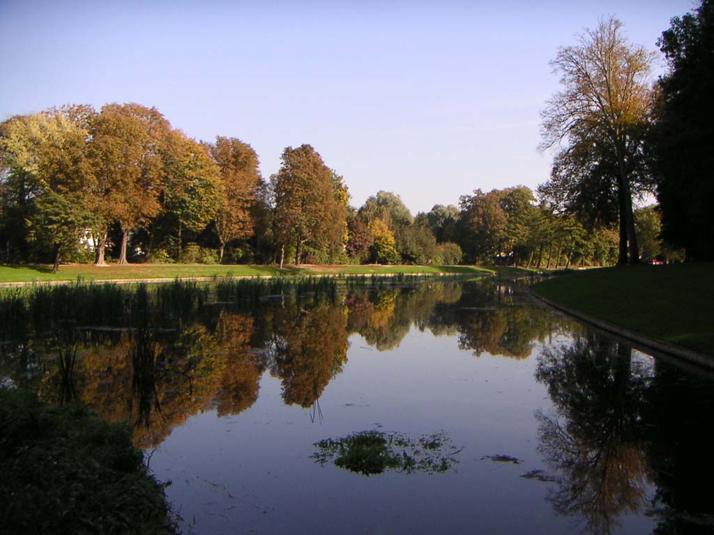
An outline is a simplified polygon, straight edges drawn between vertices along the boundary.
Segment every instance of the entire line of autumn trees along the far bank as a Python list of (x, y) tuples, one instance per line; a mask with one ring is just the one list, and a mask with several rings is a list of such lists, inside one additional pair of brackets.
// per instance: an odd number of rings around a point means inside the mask
[(91, 255), (102, 265), (108, 248), (121, 264), (611, 260), (608, 230), (535, 205), (523, 186), (476, 190), (460, 208), (435, 205), (416, 217), (385, 191), (356, 209), (343, 178), (309, 145), (286, 148), (265, 181), (246, 143), (196, 142), (134, 103), (18, 116), (0, 133), (5, 262), (54, 260), (56, 269), (63, 256)]

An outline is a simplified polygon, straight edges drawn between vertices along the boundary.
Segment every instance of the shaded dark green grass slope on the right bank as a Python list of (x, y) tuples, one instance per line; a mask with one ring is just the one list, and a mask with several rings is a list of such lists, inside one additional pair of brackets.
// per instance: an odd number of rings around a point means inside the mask
[(605, 322), (714, 357), (714, 263), (608, 267), (533, 286)]

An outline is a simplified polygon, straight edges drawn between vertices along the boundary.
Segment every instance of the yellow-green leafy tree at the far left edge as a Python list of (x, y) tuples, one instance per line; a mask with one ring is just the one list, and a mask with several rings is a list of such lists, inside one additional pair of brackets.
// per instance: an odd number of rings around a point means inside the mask
[(54, 271), (91, 225), (94, 176), (86, 157), (85, 120), (91, 113), (88, 106), (67, 106), (0, 125), (4, 230), (25, 255), (29, 243), (37, 252), (51, 250)]

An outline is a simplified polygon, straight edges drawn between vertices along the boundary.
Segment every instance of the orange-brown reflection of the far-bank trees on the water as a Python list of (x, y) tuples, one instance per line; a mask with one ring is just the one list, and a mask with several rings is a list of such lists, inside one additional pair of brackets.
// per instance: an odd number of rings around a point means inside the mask
[[(2, 347), (0, 370), (44, 399), (79, 399), (111, 422), (131, 424), (140, 447), (156, 446), (199, 410), (224, 416), (251, 407), (265, 370), (281, 380), (286, 404), (321, 419), (319, 398), (346, 364), (354, 332), (390, 350), (416, 326), (459, 335), (476, 354), (525, 357), (533, 340), (553, 330), (552, 320), (513, 306), (504, 285), (425, 281), (211, 306), (206, 288), (194, 282), (76, 289), (90, 296), (95, 290), (106, 323), (92, 325), (84, 314), (81, 322), (44, 315), (41, 323), (20, 325), (5, 336), (24, 341)], [(61, 293), (70, 302), (67, 291)], [(54, 334), (43, 335), (50, 327)]]

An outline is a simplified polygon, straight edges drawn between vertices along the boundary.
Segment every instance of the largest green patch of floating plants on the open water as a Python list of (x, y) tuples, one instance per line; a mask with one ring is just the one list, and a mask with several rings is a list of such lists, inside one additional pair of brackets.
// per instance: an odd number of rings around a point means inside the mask
[(318, 448), (311, 455), (315, 462), (332, 461), (337, 467), (366, 476), (387, 470), (443, 474), (458, 463), (453, 456), (463, 449), (454, 448), (443, 431), (416, 440), (401, 433), (362, 431), (314, 445)]

